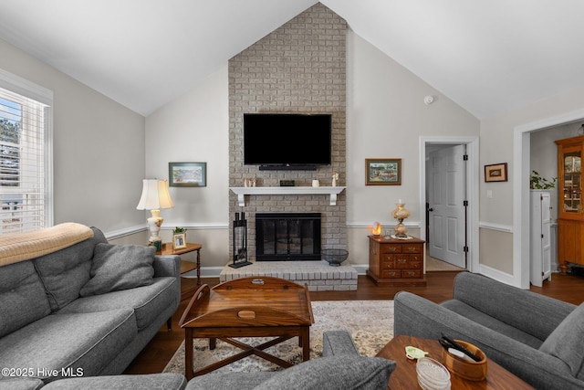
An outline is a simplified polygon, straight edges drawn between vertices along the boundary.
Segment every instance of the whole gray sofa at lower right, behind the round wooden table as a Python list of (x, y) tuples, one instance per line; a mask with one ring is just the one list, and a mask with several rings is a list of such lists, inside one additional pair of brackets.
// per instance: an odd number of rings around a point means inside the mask
[(473, 343), (537, 389), (584, 388), (584, 304), (575, 306), (481, 275), (454, 279), (452, 300), (435, 304), (401, 291), (394, 333)]

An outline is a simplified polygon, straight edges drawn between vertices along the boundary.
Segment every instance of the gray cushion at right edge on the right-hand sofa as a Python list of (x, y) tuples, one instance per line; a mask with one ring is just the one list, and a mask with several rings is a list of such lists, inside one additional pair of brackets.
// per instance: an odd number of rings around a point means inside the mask
[(584, 379), (584, 303), (551, 332), (539, 351), (556, 356), (575, 377)]

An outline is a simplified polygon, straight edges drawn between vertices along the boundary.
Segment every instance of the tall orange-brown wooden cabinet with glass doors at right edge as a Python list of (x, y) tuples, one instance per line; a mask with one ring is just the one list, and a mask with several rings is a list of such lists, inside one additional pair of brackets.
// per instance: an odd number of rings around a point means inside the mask
[(558, 144), (558, 265), (565, 273), (570, 264), (584, 266), (584, 214), (582, 213), (581, 158), (584, 136)]

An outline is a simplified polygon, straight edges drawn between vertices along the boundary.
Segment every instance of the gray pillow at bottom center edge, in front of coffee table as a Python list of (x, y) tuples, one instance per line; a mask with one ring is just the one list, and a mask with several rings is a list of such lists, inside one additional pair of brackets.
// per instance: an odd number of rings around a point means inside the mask
[(394, 369), (395, 362), (381, 357), (341, 354), (287, 368), (255, 389), (384, 389)]

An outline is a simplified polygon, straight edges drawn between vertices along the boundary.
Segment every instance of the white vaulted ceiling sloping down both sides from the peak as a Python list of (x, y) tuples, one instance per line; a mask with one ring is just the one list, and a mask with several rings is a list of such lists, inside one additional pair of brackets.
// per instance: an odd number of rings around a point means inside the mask
[[(0, 38), (149, 115), (316, 3), (0, 0)], [(582, 0), (321, 3), (479, 119), (584, 85)]]

